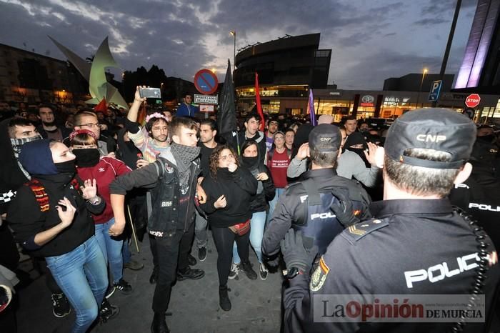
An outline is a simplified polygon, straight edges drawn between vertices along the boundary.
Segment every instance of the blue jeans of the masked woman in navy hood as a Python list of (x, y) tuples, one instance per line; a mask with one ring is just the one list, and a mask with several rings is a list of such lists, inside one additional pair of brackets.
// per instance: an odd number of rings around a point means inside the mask
[(86, 332), (97, 318), (108, 287), (106, 261), (96, 237), (92, 236), (71, 252), (45, 260), (76, 312), (71, 332)]

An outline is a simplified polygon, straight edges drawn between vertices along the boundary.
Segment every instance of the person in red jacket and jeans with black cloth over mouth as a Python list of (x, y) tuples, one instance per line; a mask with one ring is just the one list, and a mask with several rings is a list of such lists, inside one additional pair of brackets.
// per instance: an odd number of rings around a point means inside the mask
[[(124, 262), (121, 249), (124, 240), (111, 237), (109, 228), (114, 224), (113, 209), (109, 197), (109, 184), (116, 177), (128, 174), (132, 170), (123, 161), (109, 156), (100, 157), (97, 137), (92, 131), (78, 129), (69, 135), (71, 152), (76, 156), (76, 171), (81, 179), (96, 179), (99, 184), (99, 195), (106, 202), (104, 212), (93, 214), (96, 239), (101, 247), (104, 259), (109, 264), (113, 284), (109, 286), (106, 296), (118, 290), (122, 294), (130, 294), (132, 287), (123, 278)], [(109, 297), (109, 296), (108, 296)]]

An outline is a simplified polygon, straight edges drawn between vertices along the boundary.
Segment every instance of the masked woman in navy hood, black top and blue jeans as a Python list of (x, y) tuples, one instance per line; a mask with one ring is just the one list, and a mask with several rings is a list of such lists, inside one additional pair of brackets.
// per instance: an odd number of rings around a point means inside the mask
[(76, 312), (71, 332), (86, 332), (98, 313), (106, 321), (118, 312), (104, 299), (106, 261), (91, 217), (102, 212), (105, 202), (97, 195), (95, 179), (82, 182), (76, 176), (75, 156), (60, 142), (24, 144), (19, 161), (31, 181), (17, 189), (7, 213), (9, 225), (26, 250), (45, 258), (68, 297)]

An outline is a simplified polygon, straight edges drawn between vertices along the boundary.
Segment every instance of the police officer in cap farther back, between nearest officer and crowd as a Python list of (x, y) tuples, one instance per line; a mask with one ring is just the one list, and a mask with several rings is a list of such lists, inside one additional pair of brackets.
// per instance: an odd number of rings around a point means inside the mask
[[(309, 134), (311, 170), (303, 174), (302, 182), (289, 185), (276, 204), (262, 242), (267, 256), (279, 252), (279, 242), (290, 227), (301, 230), (306, 242), (318, 246), (322, 254), (344, 227), (369, 214), (370, 199), (365, 190), (359, 183), (338, 176), (334, 169), (341, 140), (339, 128), (331, 124), (319, 124)], [(339, 207), (339, 199), (348, 204), (351, 213), (356, 212), (356, 217), (344, 221), (345, 226), (330, 208)]]

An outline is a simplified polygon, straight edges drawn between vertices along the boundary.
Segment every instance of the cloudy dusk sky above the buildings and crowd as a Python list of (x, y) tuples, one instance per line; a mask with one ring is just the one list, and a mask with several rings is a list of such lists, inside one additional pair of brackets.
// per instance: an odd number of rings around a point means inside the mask
[[(457, 74), (477, 0), (462, 1), (446, 72)], [(109, 36), (123, 70), (157, 64), (192, 81), (256, 42), (320, 32), (332, 49), (329, 84), (381, 89), (384, 79), (438, 73), (456, 0), (0, 0), (0, 43), (64, 59), (54, 37), (82, 57)], [(24, 46), (26, 44), (26, 46)], [(120, 70), (114, 71), (120, 73)]]

